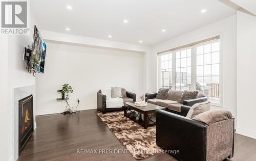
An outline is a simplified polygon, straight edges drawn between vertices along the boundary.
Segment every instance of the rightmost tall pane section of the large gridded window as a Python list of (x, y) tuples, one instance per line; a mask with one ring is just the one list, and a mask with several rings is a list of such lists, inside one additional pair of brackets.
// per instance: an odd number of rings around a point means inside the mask
[(197, 47), (197, 90), (215, 102), (220, 99), (220, 41)]

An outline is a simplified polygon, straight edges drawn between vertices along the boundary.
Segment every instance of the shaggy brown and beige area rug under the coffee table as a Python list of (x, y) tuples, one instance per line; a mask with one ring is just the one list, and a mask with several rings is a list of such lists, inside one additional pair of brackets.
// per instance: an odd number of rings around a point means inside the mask
[(136, 159), (144, 159), (161, 152), (162, 149), (156, 145), (156, 126), (144, 129), (124, 117), (123, 111), (106, 114), (96, 112), (96, 115)]

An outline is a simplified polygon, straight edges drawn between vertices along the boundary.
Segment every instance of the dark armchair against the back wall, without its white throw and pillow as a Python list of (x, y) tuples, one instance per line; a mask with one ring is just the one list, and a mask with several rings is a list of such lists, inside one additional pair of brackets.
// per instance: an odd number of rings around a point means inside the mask
[[(107, 108), (106, 107), (106, 100), (107, 96), (102, 94), (101, 90), (97, 92), (97, 110), (102, 112), (103, 114), (106, 112), (114, 112), (114, 111), (121, 111), (124, 110), (124, 107), (121, 106), (119, 108)], [(129, 91), (126, 91), (122, 88), (122, 99), (123, 102), (133, 102), (136, 101), (136, 93), (132, 93)]]

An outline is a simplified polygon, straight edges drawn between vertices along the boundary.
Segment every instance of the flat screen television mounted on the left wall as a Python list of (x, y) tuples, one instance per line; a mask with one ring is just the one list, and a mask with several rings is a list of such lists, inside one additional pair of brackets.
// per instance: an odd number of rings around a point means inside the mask
[(46, 59), (46, 43), (42, 39), (36, 26), (34, 29), (33, 45), (32, 45), (32, 64), (31, 70), (44, 73)]

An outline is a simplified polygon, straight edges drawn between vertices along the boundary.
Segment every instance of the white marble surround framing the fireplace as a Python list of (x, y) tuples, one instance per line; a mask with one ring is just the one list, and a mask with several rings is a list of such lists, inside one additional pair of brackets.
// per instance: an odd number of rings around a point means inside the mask
[(35, 121), (35, 85), (13, 88), (13, 156), (18, 158), (18, 101), (29, 95), (33, 95), (34, 129)]

